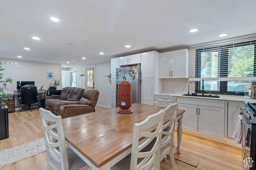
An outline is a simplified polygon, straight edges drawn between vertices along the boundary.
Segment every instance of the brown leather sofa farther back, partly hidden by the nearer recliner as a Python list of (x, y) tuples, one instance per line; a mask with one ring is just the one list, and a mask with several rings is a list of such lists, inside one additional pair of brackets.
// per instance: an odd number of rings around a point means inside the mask
[(51, 95), (45, 97), (45, 109), (58, 115), (58, 109), (61, 101), (79, 101), (84, 93), (83, 88), (65, 87), (60, 95)]

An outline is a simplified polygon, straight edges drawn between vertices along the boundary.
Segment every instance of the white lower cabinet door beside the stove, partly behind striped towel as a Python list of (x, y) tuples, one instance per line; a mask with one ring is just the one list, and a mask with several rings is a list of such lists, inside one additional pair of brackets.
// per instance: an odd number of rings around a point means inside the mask
[(244, 103), (227, 102), (228, 114), (227, 114), (227, 138), (233, 140), (233, 134), (236, 127), (237, 116), (240, 113), (240, 107), (244, 107)]

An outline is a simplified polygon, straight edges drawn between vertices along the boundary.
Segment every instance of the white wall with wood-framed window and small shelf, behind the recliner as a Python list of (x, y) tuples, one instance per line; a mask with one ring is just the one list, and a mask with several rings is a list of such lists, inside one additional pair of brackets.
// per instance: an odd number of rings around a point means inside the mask
[(104, 75), (109, 75), (111, 73), (111, 61), (97, 63), (95, 65), (86, 65), (84, 67), (73, 67), (70, 68), (69, 71), (76, 71), (76, 87), (85, 89), (85, 76), (79, 75), (85, 74), (86, 67), (93, 66), (95, 66), (95, 89), (100, 92), (97, 106), (111, 108), (111, 79), (110, 77), (103, 77)]

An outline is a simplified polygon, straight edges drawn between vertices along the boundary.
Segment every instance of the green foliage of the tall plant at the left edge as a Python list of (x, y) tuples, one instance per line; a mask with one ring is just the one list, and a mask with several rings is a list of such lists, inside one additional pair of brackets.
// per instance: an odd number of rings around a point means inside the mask
[[(0, 71), (3, 71), (4, 68), (2, 68), (2, 64), (3, 62), (0, 62)], [(2, 80), (3, 79), (3, 73), (0, 73), (0, 102), (1, 102), (1, 105), (0, 107), (2, 108), (2, 106), (7, 102), (7, 99), (3, 96), (6, 96), (6, 94), (4, 93), (4, 89), (6, 89), (6, 85), (7, 83), (11, 83), (12, 84), (12, 81), (13, 79), (11, 79), (11, 76), (8, 77), (5, 81)]]

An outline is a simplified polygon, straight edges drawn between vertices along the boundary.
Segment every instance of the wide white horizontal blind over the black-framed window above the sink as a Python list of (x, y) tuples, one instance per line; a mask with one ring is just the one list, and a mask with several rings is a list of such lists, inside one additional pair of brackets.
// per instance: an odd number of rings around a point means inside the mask
[(256, 80), (256, 37), (190, 47), (189, 81)]

